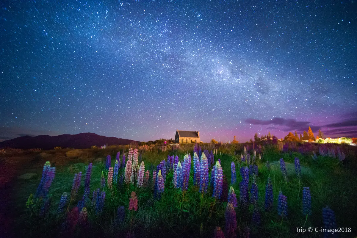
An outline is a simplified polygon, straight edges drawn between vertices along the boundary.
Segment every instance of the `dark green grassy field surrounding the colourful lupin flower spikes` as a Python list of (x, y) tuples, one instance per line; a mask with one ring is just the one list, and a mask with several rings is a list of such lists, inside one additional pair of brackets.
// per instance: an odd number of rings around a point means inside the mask
[[(347, 149), (346, 149), (347, 148)], [(193, 149), (193, 146), (192, 146)], [(188, 151), (193, 158), (192, 149)], [(261, 224), (255, 226), (252, 222), (253, 205), (248, 210), (239, 205), (240, 187), (242, 177), (239, 167), (244, 166), (240, 162), (243, 151), (240, 148), (233, 150), (237, 155), (227, 150), (218, 149), (215, 160), (221, 159), (223, 174), (225, 174), (228, 186), (231, 183), (231, 162), (236, 165), (237, 182), (233, 185), (238, 199), (238, 208), (235, 209), (237, 216), (237, 237), (323, 237), (321, 232), (298, 232), (297, 228), (316, 227), (323, 228), (322, 208), (329, 206), (336, 215), (337, 228), (351, 228), (351, 232), (338, 233), (339, 237), (355, 237), (357, 235), (357, 177), (356, 158), (354, 152), (348, 152), (345, 147), (346, 159), (340, 162), (338, 158), (318, 156), (316, 160), (311, 158), (310, 153), (282, 152), (276, 146), (266, 146), (264, 161), (256, 161), (258, 166), (258, 210), (261, 214)], [(352, 149), (351, 149), (352, 150)], [(115, 148), (106, 151), (112, 157), (111, 166), (114, 166)], [(126, 151), (127, 152), (127, 151)], [(161, 160), (167, 159), (168, 155), (178, 155), (180, 160), (187, 151), (157, 152), (148, 151), (142, 153), (142, 161), (145, 170), (149, 169), (152, 181), (152, 167)], [(221, 152), (224, 152), (220, 155)], [(92, 192), (101, 187), (101, 173), (104, 171), (107, 179), (107, 170), (104, 169), (105, 156), (103, 152), (90, 150), (68, 153), (66, 150), (48, 151), (43, 153), (28, 153), (21, 156), (2, 156), (0, 166), (1, 173), (9, 173), (8, 181), (2, 181), (1, 187), (1, 222), (7, 228), (6, 237), (63, 237), (62, 229), (68, 217), (69, 211), (77, 206), (84, 193), (85, 173), (89, 162), (93, 163), (90, 180), (90, 198)], [(300, 159), (302, 178), (295, 174), (294, 159)], [(287, 182), (280, 170), (280, 162), (283, 158), (288, 171)], [(31, 193), (35, 193), (40, 183), (42, 166), (49, 160), (56, 167), (55, 178), (49, 189), (50, 209), (40, 216), (39, 212), (43, 201), (34, 200), (33, 208), (26, 208), (26, 201)], [(270, 168), (266, 161), (270, 162)], [(153, 166), (151, 166), (151, 163)], [(140, 162), (139, 162), (140, 164)], [(11, 170), (12, 169), (12, 170)], [(211, 169), (210, 169), (211, 171)], [(70, 193), (75, 173), (82, 172), (82, 181), (79, 194), (76, 199), (67, 201), (65, 211), (58, 213), (57, 207), (61, 194)], [(120, 174), (124, 170), (121, 168)], [(274, 204), (272, 211), (265, 211), (265, 189), (268, 175), (270, 174), (273, 186)], [(22, 177), (17, 177), (22, 175)], [(90, 201), (85, 205), (88, 211), (86, 226), (77, 224), (70, 236), (75, 237), (125, 237), (128, 231), (135, 237), (212, 237), (216, 226), (225, 231), (225, 211), (227, 201), (212, 198), (212, 186), (208, 186), (208, 192), (203, 196), (198, 192), (198, 187), (193, 186), (193, 162), (188, 190), (182, 192), (174, 188), (172, 184), (173, 171), (167, 173), (165, 192), (161, 199), (154, 199), (154, 185), (138, 188), (135, 184), (116, 184), (115, 192), (111, 192), (106, 186), (104, 210), (101, 215), (96, 215), (90, 206)], [(5, 176), (6, 177), (6, 176)], [(252, 179), (250, 179), (249, 191)], [(310, 187), (311, 210), (310, 216), (302, 213), (302, 188)], [(102, 189), (103, 190), (103, 189)], [(136, 192), (139, 208), (137, 211), (128, 211), (129, 198), (132, 191)], [(287, 196), (288, 216), (282, 218), (277, 212), (279, 191)], [(35, 206), (36, 205), (36, 206)], [(117, 208), (124, 206), (125, 219), (117, 222)]]

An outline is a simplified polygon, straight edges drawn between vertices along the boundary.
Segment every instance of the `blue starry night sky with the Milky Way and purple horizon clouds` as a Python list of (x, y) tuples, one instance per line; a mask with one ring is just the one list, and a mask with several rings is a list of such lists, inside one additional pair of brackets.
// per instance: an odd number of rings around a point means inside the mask
[(357, 136), (355, 1), (1, 1), (0, 139)]

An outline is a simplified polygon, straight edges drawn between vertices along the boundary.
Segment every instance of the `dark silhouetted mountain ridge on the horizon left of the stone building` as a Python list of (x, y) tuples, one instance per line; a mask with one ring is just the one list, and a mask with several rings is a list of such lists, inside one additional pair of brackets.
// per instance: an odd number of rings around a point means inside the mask
[(59, 136), (21, 136), (11, 140), (0, 142), (0, 148), (31, 149), (41, 148), (42, 150), (53, 150), (54, 147), (84, 149), (91, 146), (129, 145), (132, 142), (139, 142), (116, 137), (99, 136), (94, 133), (80, 133), (77, 135)]

